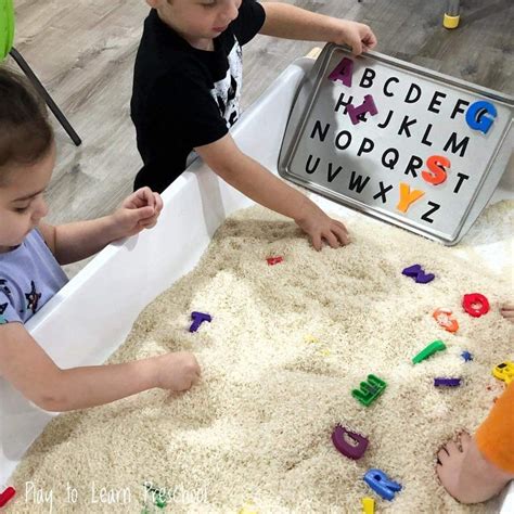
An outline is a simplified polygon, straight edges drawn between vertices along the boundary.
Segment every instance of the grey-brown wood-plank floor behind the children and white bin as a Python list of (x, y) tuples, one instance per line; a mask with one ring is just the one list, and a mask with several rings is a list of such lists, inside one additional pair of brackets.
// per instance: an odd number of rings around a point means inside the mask
[[(446, 0), (293, 0), (369, 24), (377, 51), (514, 94), (514, 2), (462, 0), (461, 26), (441, 26)], [(49, 221), (102, 216), (131, 192), (140, 167), (129, 118), (132, 66), (149, 8), (144, 0), (15, 0), (15, 46), (83, 139), (60, 126), (48, 191)], [(244, 48), (248, 106), (312, 42), (258, 36)], [(81, 266), (69, 268), (74, 274)]]

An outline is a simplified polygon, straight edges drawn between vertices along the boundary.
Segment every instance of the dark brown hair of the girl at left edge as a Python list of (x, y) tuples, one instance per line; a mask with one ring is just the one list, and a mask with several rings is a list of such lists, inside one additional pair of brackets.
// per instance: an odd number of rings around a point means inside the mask
[(23, 77), (0, 66), (0, 184), (8, 165), (35, 164), (52, 143), (44, 104)]

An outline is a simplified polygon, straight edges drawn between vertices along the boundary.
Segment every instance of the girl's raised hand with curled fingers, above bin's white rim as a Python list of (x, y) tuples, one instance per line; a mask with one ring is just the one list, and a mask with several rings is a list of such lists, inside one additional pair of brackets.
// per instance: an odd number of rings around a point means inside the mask
[(121, 207), (114, 213), (120, 237), (137, 234), (143, 229), (155, 227), (163, 209), (163, 198), (150, 188), (141, 188), (128, 196)]

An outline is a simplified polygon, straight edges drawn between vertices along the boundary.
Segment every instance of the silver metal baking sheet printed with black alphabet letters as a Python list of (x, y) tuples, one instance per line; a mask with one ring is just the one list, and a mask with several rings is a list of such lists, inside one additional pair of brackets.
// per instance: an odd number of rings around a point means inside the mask
[[(376, 114), (354, 124), (346, 104), (358, 107), (367, 95)], [(298, 91), (279, 172), (346, 206), (455, 244), (507, 165), (513, 106), (512, 97), (377, 52), (356, 57), (327, 44)]]

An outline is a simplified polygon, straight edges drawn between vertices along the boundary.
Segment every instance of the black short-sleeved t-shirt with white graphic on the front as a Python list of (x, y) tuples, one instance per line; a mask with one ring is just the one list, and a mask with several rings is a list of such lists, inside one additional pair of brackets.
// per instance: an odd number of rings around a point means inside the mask
[(131, 117), (144, 166), (134, 189), (164, 191), (185, 169), (195, 146), (222, 138), (239, 117), (241, 47), (265, 22), (255, 0), (243, 0), (239, 16), (197, 50), (166, 25), (155, 10), (144, 22), (136, 57)]

